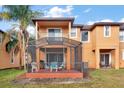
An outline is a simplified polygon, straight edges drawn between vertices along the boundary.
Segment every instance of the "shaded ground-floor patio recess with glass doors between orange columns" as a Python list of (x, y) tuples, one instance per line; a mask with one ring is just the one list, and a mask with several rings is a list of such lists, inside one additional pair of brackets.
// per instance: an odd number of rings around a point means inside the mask
[(65, 48), (40, 48), (40, 62), (43, 63), (40, 69), (47, 69), (50, 64), (57, 64), (65, 68)]

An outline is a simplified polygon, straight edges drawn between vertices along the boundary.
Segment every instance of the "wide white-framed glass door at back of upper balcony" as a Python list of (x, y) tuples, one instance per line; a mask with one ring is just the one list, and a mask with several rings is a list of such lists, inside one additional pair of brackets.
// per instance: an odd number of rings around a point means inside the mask
[(61, 29), (59, 28), (48, 29), (48, 37), (62, 37)]

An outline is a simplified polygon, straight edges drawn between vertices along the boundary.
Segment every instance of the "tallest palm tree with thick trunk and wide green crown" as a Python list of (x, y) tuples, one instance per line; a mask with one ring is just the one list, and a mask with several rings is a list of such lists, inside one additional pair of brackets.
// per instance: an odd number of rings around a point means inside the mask
[[(9, 20), (9, 21), (16, 21), (19, 24), (19, 29), (20, 29), (20, 38), (19, 42), (21, 49), (21, 57), (20, 62), (24, 62), (25, 64), (25, 50), (26, 50), (26, 45), (28, 44), (29, 40), (29, 34), (26, 30), (27, 26), (31, 24), (31, 18), (36, 18), (43, 13), (33, 11), (31, 10), (31, 6), (29, 5), (5, 5), (3, 6), (3, 12), (0, 13), (0, 18)], [(23, 59), (23, 60), (22, 60)], [(24, 68), (26, 69), (26, 66), (24, 65)]]

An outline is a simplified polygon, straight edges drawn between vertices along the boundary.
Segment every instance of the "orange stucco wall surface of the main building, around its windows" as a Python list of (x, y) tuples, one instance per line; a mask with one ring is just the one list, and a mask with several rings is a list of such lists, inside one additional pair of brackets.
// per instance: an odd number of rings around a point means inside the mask
[[(63, 36), (67, 36), (69, 39), (74, 39), (81, 42), (81, 29), (77, 27), (77, 37), (71, 38), (69, 36), (69, 24), (60, 25), (50, 24), (49, 25), (39, 25), (38, 27), (38, 38), (47, 36), (48, 28), (61, 28)], [(71, 28), (70, 28), (71, 29)], [(111, 36), (104, 37), (104, 26), (96, 26), (92, 31), (89, 31), (89, 42), (82, 42), (82, 54), (78, 54), (82, 57), (82, 62), (88, 62), (89, 68), (100, 68), (100, 53), (103, 50), (105, 53), (111, 54), (111, 64), (112, 67), (118, 69), (119, 67), (124, 67), (124, 60), (122, 60), (121, 51), (123, 50), (124, 44), (119, 43), (119, 26), (111, 26)], [(53, 47), (53, 46), (52, 46)], [(73, 50), (72, 50), (73, 51)], [(74, 52), (73, 52), (74, 53)], [(74, 54), (72, 53), (72, 57)], [(69, 49), (67, 49), (67, 54), (70, 55)], [(44, 54), (40, 52), (40, 59), (44, 59)], [(70, 58), (67, 56), (66, 61)], [(72, 64), (73, 64), (72, 60)], [(69, 66), (68, 66), (69, 67)]]

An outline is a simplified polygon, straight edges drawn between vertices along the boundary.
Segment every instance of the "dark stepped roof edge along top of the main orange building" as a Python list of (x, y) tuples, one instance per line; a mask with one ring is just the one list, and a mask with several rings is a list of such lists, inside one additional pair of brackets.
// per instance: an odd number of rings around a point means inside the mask
[(42, 17), (42, 18), (33, 18), (32, 21), (71, 21), (72, 22), (72, 27), (80, 27), (82, 30), (88, 30), (91, 31), (93, 30), (96, 26), (103, 26), (103, 25), (110, 25), (110, 26), (120, 26), (120, 30), (124, 30), (124, 23), (120, 22), (97, 22), (94, 23), (93, 25), (83, 25), (83, 24), (73, 24), (74, 22), (74, 17)]

